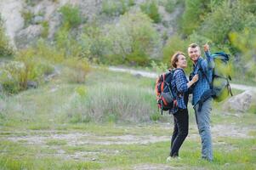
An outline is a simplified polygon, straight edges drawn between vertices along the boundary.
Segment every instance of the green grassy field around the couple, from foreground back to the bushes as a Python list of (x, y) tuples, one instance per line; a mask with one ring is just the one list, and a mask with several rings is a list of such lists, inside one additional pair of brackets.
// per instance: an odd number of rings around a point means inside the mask
[[(139, 166), (156, 169), (164, 166), (178, 169), (256, 168), (256, 115), (244, 113), (237, 116), (237, 113), (223, 111), (224, 103), (213, 104), (213, 126), (247, 128), (247, 138), (223, 137), (219, 135), (221, 132), (214, 133), (213, 162), (200, 159), (201, 141), (191, 105), (190, 133), (179, 153), (182, 159), (171, 163), (165, 161), (170, 145), (168, 136), (174, 126), (173, 117), (168, 114), (159, 116), (159, 120), (145, 122), (115, 122), (115, 117), (109, 117), (105, 122), (80, 120), (87, 111), (84, 107), (87, 97), (102, 89), (120, 89), (117, 94), (122, 96), (126, 93), (128, 99), (124, 101), (129, 104), (134, 104), (130, 100), (138, 96), (146, 96), (149, 99), (142, 101), (150, 102), (150, 109), (156, 114), (154, 94), (149, 92), (153, 90), (154, 81), (98, 69), (88, 75), (84, 84), (67, 83), (57, 77), (40, 88), (3, 97), (1, 103), (4, 106), (0, 108), (0, 169), (134, 169)], [(114, 85), (116, 88), (113, 88)], [(134, 90), (132, 86), (144, 94), (137, 91), (135, 94), (127, 93)], [(125, 90), (127, 92), (123, 92)], [(241, 91), (235, 90), (234, 93), (240, 94)], [(114, 94), (110, 92), (102, 98), (116, 97), (117, 94)], [(91, 96), (89, 99), (94, 98)], [(138, 103), (138, 100), (135, 101)], [(105, 103), (101, 103), (100, 107), (106, 107)], [(76, 116), (73, 116), (74, 113)], [(111, 111), (106, 112), (108, 114), (113, 115)], [(141, 114), (135, 118), (139, 116), (151, 115)], [(162, 137), (166, 139), (143, 143)]]

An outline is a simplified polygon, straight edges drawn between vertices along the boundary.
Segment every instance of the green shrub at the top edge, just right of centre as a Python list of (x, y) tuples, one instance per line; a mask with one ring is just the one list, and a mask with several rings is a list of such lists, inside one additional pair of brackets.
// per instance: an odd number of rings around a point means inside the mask
[(161, 15), (158, 13), (158, 5), (155, 0), (146, 1), (140, 5), (142, 12), (147, 14), (155, 23), (161, 22)]

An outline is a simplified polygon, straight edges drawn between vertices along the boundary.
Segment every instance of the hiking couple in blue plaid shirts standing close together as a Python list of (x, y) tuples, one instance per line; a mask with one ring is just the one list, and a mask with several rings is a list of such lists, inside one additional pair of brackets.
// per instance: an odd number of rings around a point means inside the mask
[(187, 67), (185, 54), (177, 52), (172, 56), (171, 65), (174, 67), (174, 76), (171, 82), (172, 91), (177, 99), (178, 107), (170, 110), (174, 115), (174, 133), (171, 139), (171, 151), (167, 161), (179, 157), (179, 148), (188, 135), (188, 96), (192, 94), (192, 105), (196, 114), (196, 124), (202, 140), (202, 159), (213, 161), (212, 139), (210, 132), (210, 112), (212, 99), (199, 105), (202, 94), (210, 88), (208, 80), (212, 80), (213, 58), (209, 52), (208, 44), (203, 46), (206, 59), (196, 43), (188, 47), (188, 55), (193, 62), (191, 81), (185, 77), (184, 69)]

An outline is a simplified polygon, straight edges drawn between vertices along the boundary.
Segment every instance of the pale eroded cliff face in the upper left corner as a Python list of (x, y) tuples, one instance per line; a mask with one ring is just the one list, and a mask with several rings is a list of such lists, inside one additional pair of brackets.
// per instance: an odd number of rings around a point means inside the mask
[[(77, 5), (88, 20), (100, 12), (100, 0), (1, 0), (0, 12), (10, 42), (17, 48), (29, 45), (41, 35), (43, 21), (48, 22), (48, 38), (54, 37), (61, 20), (58, 9), (66, 3)], [(29, 23), (26, 14), (31, 14)]]

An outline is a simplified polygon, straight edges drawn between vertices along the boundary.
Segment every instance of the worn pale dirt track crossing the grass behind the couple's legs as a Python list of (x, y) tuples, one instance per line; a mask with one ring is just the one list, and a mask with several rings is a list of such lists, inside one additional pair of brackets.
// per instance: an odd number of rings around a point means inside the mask
[[(162, 130), (169, 129), (170, 127), (163, 125), (160, 127)], [(195, 125), (191, 126), (196, 129)], [(255, 127), (238, 127), (236, 125), (213, 125), (213, 145), (218, 147), (225, 144), (224, 141), (218, 140), (218, 137), (231, 137), (238, 139), (253, 138), (249, 132), (254, 131)], [(145, 129), (146, 130), (146, 129)], [(222, 132), (222, 133), (219, 133)], [(170, 128), (171, 133), (171, 128)], [(38, 156), (47, 157), (54, 156), (60, 157), (65, 160), (77, 161), (100, 161), (100, 155), (115, 156), (125, 153), (125, 150), (120, 147), (109, 148), (111, 144), (153, 144), (157, 142), (168, 142), (170, 136), (156, 136), (156, 135), (143, 135), (143, 134), (125, 134), (125, 135), (108, 135), (102, 136), (94, 133), (82, 133), (77, 131), (70, 131), (68, 133), (61, 131), (47, 131), (47, 130), (31, 130), (31, 131), (15, 131), (15, 132), (1, 132), (0, 140), (9, 140), (16, 144), (26, 144), (28, 146), (40, 147), (46, 150), (54, 150), (51, 153), (40, 153)], [(192, 131), (186, 140), (200, 141), (197, 131)], [(82, 148), (98, 148), (87, 150)], [(73, 151), (68, 151), (66, 148), (80, 148)], [(233, 146), (226, 144), (226, 150), (234, 150)], [(191, 169), (192, 167), (190, 167)], [(134, 165), (133, 169), (187, 169), (187, 167), (171, 167), (166, 164), (139, 164)], [(193, 169), (193, 168), (192, 168)], [(194, 168), (196, 169), (196, 167)]]

